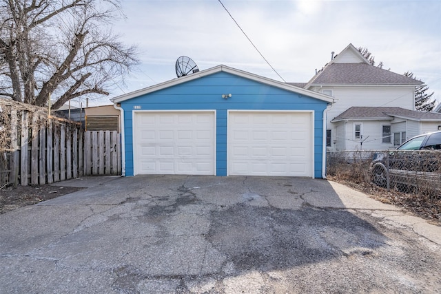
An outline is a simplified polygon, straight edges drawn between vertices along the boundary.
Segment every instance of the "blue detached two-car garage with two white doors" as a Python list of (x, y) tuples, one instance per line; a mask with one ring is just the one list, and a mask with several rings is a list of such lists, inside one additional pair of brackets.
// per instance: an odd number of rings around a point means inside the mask
[(324, 177), (330, 96), (218, 65), (113, 102), (125, 176)]

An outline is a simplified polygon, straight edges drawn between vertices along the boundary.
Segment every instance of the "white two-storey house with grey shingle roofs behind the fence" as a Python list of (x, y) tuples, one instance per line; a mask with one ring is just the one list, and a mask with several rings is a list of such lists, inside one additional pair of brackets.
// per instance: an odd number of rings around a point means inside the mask
[(291, 84), (336, 99), (327, 111), (328, 149), (393, 149), (441, 128), (441, 114), (415, 110), (421, 81), (371, 65), (352, 44), (308, 83)]

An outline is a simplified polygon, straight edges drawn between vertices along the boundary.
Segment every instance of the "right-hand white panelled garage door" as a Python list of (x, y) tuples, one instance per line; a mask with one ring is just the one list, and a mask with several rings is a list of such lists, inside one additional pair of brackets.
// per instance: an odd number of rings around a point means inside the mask
[(228, 174), (314, 177), (312, 112), (228, 114)]

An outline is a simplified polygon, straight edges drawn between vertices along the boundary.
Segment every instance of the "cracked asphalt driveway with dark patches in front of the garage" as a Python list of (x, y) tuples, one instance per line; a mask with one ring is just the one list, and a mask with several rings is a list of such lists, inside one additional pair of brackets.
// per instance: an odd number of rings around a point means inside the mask
[[(307, 178), (81, 178), (0, 215), (0, 293), (435, 293), (441, 228)], [(60, 184), (59, 184), (60, 185)]]

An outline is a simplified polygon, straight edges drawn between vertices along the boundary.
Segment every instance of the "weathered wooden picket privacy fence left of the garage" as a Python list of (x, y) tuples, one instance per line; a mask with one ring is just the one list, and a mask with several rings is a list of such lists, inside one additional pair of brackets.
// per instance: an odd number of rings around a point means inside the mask
[(6, 116), (2, 107), (1, 112), (0, 187), (121, 175), (121, 140), (116, 131), (84, 132), (79, 123), (28, 109), (11, 108)]

